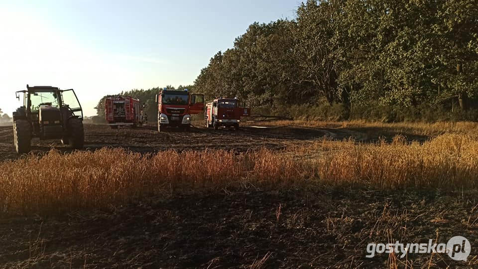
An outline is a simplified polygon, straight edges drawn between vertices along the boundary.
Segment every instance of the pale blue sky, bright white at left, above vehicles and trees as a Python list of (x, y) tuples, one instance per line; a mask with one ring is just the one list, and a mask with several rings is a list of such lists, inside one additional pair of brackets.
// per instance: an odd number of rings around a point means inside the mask
[(295, 17), (300, 0), (0, 0), (0, 108), (14, 92), (75, 89), (86, 116), (107, 94), (192, 84), (254, 21)]

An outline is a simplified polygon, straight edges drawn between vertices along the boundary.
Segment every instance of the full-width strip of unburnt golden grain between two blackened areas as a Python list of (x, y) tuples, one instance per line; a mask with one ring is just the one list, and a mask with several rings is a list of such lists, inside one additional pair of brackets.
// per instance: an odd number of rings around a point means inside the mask
[(61, 154), (0, 163), (3, 215), (100, 209), (151, 194), (228, 187), (310, 186), (476, 188), (478, 140), (444, 134), (422, 144), (317, 140), (284, 151), (122, 149)]

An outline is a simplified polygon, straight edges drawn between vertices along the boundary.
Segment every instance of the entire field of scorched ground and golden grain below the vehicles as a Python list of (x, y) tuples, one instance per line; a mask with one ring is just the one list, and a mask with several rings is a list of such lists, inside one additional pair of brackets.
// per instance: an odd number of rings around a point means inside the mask
[[(261, 122), (158, 134), (85, 125), (86, 150), (0, 127), (4, 267), (476, 267), (475, 123)], [(466, 237), (447, 254), (368, 243)]]

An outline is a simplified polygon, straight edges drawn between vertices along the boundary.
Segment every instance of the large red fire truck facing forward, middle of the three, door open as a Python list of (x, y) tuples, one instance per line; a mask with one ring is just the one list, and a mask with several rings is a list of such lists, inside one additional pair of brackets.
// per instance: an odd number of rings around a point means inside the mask
[(204, 111), (204, 95), (190, 94), (187, 89), (162, 89), (156, 95), (158, 105), (158, 132), (165, 127), (189, 130), (191, 115)]

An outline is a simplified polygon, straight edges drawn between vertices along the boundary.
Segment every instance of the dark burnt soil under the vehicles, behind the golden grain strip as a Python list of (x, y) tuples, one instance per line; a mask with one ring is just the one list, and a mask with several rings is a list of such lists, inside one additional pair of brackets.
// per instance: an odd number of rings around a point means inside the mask
[[(221, 128), (214, 131), (202, 126), (202, 122), (195, 122), (189, 131), (166, 129), (158, 133), (157, 127), (150, 125), (143, 128), (110, 129), (106, 125), (85, 124), (85, 149), (95, 150), (105, 146), (123, 147), (135, 152), (156, 152), (174, 149), (202, 150), (225, 149), (244, 152), (259, 148), (283, 149), (294, 143), (306, 143), (314, 139), (327, 136), (332, 139), (346, 139), (352, 137), (360, 142), (374, 142), (378, 137), (391, 140), (395, 133), (386, 130), (367, 128), (309, 128), (291, 126), (267, 126), (249, 124), (241, 126), (239, 131), (233, 128)], [(409, 140), (426, 140), (426, 136), (408, 135)], [(44, 154), (51, 148), (63, 152), (71, 152), (67, 145), (59, 140), (39, 140), (34, 138), (31, 144), (32, 154)], [(0, 127), (0, 161), (19, 158), (14, 151), (13, 132), (11, 126)]]

